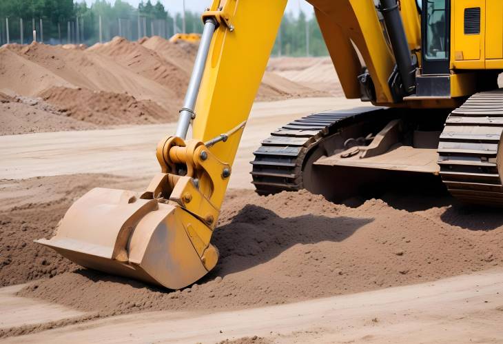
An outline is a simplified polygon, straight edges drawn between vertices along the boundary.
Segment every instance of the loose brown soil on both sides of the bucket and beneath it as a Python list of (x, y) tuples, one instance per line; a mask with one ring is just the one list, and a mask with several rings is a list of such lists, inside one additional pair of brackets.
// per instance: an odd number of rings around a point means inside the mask
[(408, 196), (396, 194), (351, 208), (306, 191), (265, 197), (230, 190), (212, 239), (220, 250), (216, 269), (177, 291), (80, 269), (31, 243), (50, 236), (85, 190), (141, 190), (146, 184), (90, 175), (2, 181), (3, 285), (42, 278), (19, 294), (110, 316), (274, 305), (502, 264), (500, 211), (464, 207), (448, 196), (423, 199), (432, 205), (424, 210), (407, 210)]

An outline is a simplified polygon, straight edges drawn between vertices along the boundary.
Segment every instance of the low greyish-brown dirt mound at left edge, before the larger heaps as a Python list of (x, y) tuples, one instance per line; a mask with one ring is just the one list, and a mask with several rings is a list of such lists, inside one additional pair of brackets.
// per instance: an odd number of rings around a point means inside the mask
[(95, 125), (68, 118), (39, 98), (9, 97), (0, 93), (0, 135), (94, 129)]

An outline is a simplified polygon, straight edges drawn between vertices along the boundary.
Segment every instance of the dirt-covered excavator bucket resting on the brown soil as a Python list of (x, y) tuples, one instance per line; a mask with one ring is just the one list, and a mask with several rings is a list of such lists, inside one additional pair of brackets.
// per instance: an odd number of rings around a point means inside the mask
[(179, 289), (216, 264), (216, 249), (198, 252), (190, 238), (198, 222), (171, 201), (95, 188), (70, 207), (52, 239), (37, 242), (83, 267)]

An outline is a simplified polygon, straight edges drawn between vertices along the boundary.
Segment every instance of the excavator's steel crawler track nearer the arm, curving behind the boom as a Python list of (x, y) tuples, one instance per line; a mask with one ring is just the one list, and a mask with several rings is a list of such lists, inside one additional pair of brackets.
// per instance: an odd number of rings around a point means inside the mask
[(348, 125), (365, 121), (382, 108), (356, 108), (310, 114), (284, 125), (265, 139), (251, 161), (252, 183), (258, 194), (276, 194), (304, 188), (306, 157), (320, 142)]

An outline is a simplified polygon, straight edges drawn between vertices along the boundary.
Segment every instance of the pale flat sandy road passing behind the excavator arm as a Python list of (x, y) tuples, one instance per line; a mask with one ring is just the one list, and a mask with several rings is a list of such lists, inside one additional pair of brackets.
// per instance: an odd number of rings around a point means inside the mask
[[(311, 112), (363, 105), (358, 100), (314, 98), (255, 103), (240, 143), (230, 188), (251, 188), (249, 161), (260, 141), (292, 119)], [(0, 179), (74, 173), (150, 176), (158, 172), (155, 147), (175, 123), (114, 130), (0, 136)], [(81, 157), (85, 156), (85, 159)]]

